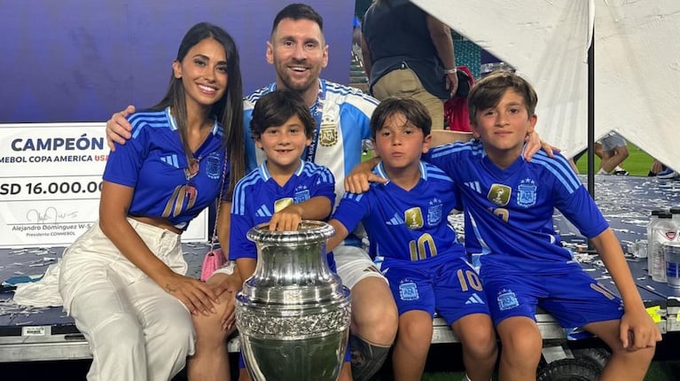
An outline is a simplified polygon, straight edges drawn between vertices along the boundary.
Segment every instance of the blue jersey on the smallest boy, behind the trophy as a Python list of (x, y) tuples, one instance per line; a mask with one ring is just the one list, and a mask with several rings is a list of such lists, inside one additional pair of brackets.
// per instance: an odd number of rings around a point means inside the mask
[(314, 163), (302, 161), (284, 186), (271, 178), (267, 163), (254, 169), (238, 181), (231, 204), (229, 259), (257, 259), (257, 250), (246, 233), (254, 226), (270, 222), (271, 216), (286, 206), (300, 204), (309, 198), (326, 197), (331, 202), (335, 180), (331, 171)]

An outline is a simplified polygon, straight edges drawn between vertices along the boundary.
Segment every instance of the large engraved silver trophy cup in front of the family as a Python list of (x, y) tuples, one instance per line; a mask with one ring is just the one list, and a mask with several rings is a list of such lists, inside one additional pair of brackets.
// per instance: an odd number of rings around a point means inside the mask
[(253, 276), (236, 296), (241, 352), (254, 380), (337, 380), (350, 323), (347, 287), (326, 261), (325, 222), (297, 231), (250, 229), (257, 246)]

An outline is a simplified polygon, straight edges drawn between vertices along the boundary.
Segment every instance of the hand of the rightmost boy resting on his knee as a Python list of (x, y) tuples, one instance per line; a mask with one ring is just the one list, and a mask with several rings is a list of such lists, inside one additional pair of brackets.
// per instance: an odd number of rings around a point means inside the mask
[(656, 346), (661, 341), (661, 331), (645, 309), (626, 311), (619, 325), (621, 345), (629, 351)]

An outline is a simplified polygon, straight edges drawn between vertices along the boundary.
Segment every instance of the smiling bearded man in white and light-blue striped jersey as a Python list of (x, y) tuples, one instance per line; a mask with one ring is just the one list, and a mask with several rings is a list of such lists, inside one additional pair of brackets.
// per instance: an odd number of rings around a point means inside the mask
[[(325, 44), (323, 27), (321, 15), (307, 4), (290, 4), (277, 13), (266, 50), (267, 61), (277, 72), (276, 82), (254, 91), (244, 100), (246, 172), (264, 159), (263, 153), (255, 150), (250, 133), (255, 103), (275, 89), (292, 89), (301, 94), (316, 120), (312, 143), (302, 159), (329, 167), (336, 179), (335, 193), (341, 196), (346, 175), (361, 162), (363, 140), (371, 138), (369, 121), (378, 101), (358, 89), (319, 78), (321, 70), (328, 64), (328, 45)], [(112, 119), (106, 122), (110, 140), (124, 143), (129, 138), (130, 128), (125, 116), (132, 112), (134, 107), (129, 106), (125, 111), (113, 114)], [(336, 198), (336, 205), (339, 199)], [(229, 214), (221, 215), (217, 228), (226, 251)], [(379, 370), (394, 342), (397, 328), (395, 301), (387, 280), (374, 266), (368, 253), (363, 251), (361, 238), (362, 233), (356, 232), (333, 250), (338, 274), (352, 295), (349, 345), (355, 380), (367, 380)], [(240, 279), (238, 270), (231, 276), (224, 273), (215, 276), (219, 278), (211, 278), (209, 285), (218, 295), (240, 289), (245, 280)], [(216, 312), (224, 316), (220, 329), (231, 324), (232, 310), (233, 307), (224, 313)]]

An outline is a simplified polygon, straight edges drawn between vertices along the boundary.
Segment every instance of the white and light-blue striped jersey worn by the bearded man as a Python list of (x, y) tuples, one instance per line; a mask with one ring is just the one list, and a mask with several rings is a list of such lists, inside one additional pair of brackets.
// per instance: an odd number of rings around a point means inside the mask
[[(246, 97), (243, 108), (245, 136), (252, 136), (250, 121), (255, 103), (265, 94), (276, 90), (276, 83), (256, 90)], [(328, 167), (336, 180), (336, 200), (344, 193), (343, 182), (352, 168), (361, 163), (363, 140), (371, 139), (371, 114), (378, 100), (361, 90), (338, 83), (319, 80), (317, 102), (309, 111), (317, 121), (312, 144), (302, 159)], [(253, 139), (246, 139), (246, 167), (252, 170), (264, 161), (262, 150), (256, 150)]]

